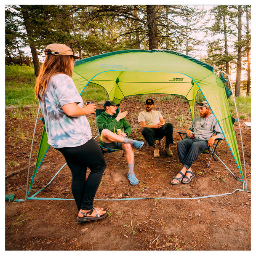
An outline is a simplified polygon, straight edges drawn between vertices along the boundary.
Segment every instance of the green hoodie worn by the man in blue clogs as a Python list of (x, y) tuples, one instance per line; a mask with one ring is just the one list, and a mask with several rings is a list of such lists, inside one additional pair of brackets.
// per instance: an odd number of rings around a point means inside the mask
[(103, 129), (108, 129), (113, 133), (117, 133), (117, 129), (121, 129), (121, 131), (125, 132), (127, 136), (131, 133), (131, 126), (127, 123), (125, 118), (122, 118), (117, 122), (115, 119), (117, 114), (109, 115), (106, 112), (102, 112), (101, 115), (96, 117), (96, 126), (99, 128), (100, 133)]

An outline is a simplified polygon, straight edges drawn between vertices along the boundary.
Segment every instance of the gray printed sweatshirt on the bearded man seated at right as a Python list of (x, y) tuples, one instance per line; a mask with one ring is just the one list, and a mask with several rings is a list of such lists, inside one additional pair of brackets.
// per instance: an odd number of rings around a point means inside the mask
[(206, 118), (196, 117), (189, 126), (189, 130), (195, 133), (196, 139), (209, 140), (214, 135), (218, 135), (221, 139), (224, 138), (221, 128), (213, 114)]

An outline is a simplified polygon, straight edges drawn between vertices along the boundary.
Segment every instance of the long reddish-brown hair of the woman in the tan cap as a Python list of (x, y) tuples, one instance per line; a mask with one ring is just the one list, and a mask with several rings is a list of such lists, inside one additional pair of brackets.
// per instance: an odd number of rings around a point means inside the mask
[[(47, 50), (46, 50), (47, 51)], [(40, 101), (47, 85), (53, 75), (66, 74), (72, 76), (72, 56), (70, 55), (46, 55), (45, 61), (40, 68), (39, 75), (35, 81), (35, 95)]]

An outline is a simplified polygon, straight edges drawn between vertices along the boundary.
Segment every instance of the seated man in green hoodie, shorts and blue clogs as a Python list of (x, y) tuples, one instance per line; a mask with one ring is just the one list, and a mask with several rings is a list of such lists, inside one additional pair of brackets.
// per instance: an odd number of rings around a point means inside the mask
[(144, 142), (129, 139), (131, 133), (131, 126), (125, 120), (127, 111), (122, 112), (121, 109), (117, 114), (117, 107), (120, 104), (115, 104), (114, 101), (105, 101), (103, 107), (105, 112), (96, 117), (96, 126), (101, 133), (101, 141), (105, 147), (109, 149), (123, 149), (125, 151), (126, 159), (128, 162), (128, 180), (131, 185), (136, 185), (139, 180), (133, 172), (134, 153), (132, 146), (140, 149)]

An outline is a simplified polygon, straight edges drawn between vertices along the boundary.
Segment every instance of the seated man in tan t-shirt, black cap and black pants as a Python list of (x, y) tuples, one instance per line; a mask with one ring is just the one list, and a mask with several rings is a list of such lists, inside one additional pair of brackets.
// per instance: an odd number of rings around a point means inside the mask
[(173, 144), (173, 125), (166, 123), (163, 116), (157, 110), (153, 110), (154, 101), (146, 100), (146, 109), (139, 113), (138, 122), (142, 128), (142, 135), (149, 144), (154, 148), (154, 157), (160, 157), (159, 148), (155, 144), (155, 138), (163, 138), (165, 136), (165, 152), (169, 157), (173, 156), (170, 144)]

